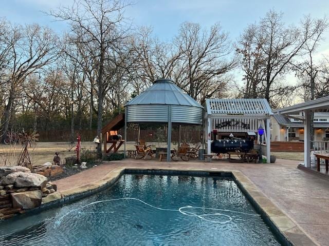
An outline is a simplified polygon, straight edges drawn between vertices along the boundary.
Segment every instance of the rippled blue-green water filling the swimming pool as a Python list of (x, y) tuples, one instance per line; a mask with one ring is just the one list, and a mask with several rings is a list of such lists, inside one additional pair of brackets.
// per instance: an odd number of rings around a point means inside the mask
[(62, 208), (3, 221), (0, 244), (281, 245), (232, 179), (141, 174), (124, 174)]

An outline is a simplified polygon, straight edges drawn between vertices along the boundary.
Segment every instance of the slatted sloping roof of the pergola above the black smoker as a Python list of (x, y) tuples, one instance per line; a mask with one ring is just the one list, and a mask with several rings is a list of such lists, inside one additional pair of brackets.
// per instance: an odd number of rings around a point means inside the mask
[(249, 117), (272, 115), (264, 98), (255, 99), (206, 99), (208, 115), (244, 115)]

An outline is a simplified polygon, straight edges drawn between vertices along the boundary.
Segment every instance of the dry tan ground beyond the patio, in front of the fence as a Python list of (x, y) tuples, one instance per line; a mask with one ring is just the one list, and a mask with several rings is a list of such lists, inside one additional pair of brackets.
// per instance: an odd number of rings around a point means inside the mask
[[(166, 147), (165, 142), (150, 142), (152, 148)], [(135, 142), (127, 142), (127, 150), (134, 150)], [(177, 149), (177, 144), (173, 144), (172, 148)], [(69, 142), (36, 142), (28, 149), (31, 161), (33, 165), (42, 165), (45, 162), (52, 162), (55, 152), (60, 152), (61, 161), (65, 161), (65, 157), (76, 155), (75, 144), (70, 144)], [(82, 142), (82, 149), (95, 150), (96, 144), (94, 142)], [(19, 145), (0, 145), (0, 166), (10, 166), (16, 165), (19, 159), (22, 147)], [(119, 152), (123, 152), (123, 145), (119, 149)], [(277, 158), (289, 159), (289, 160), (303, 160), (303, 152), (271, 152), (272, 155), (276, 155)], [(63, 162), (64, 163), (64, 162)]]

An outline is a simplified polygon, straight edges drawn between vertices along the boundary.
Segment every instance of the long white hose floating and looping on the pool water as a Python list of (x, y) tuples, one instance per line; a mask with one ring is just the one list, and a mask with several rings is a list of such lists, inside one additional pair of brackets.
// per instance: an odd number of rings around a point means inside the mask
[[(109, 201), (118, 201), (118, 200), (136, 200), (139, 202), (144, 203), (147, 206), (150, 206), (151, 208), (157, 209), (157, 210), (161, 210), (161, 211), (173, 211), (173, 212), (179, 212), (183, 215), (187, 215), (187, 216), (193, 216), (193, 217), (197, 217), (199, 219), (208, 221), (208, 222), (212, 222), (212, 223), (228, 223), (232, 220), (232, 217), (230, 217), (227, 214), (222, 214), (222, 213), (209, 213), (209, 214), (195, 214), (189, 211), (186, 211), (185, 209), (204, 209), (204, 210), (212, 210), (212, 211), (222, 211), (222, 212), (230, 212), (230, 213), (237, 213), (237, 214), (245, 214), (245, 215), (249, 215), (249, 216), (259, 216), (258, 214), (249, 214), (249, 213), (244, 213), (244, 212), (238, 212), (238, 211), (233, 211), (233, 210), (228, 210), (228, 209), (212, 209), (212, 208), (204, 208), (204, 207), (193, 207), (193, 206), (185, 206), (185, 207), (181, 207), (179, 209), (161, 209), (161, 208), (157, 208), (147, 202), (144, 202), (140, 199), (134, 198), (134, 197), (123, 197), (123, 198), (117, 198), (117, 199), (108, 199), (108, 200), (99, 200), (99, 201), (94, 201), (94, 202), (90, 202), (80, 208), (71, 210), (69, 212), (67, 212), (66, 214), (64, 214), (62, 217), (60, 217), (55, 223), (54, 223), (54, 227), (57, 228), (58, 226), (60, 226), (62, 220), (64, 219), (65, 216), (67, 216), (68, 214), (78, 211), (80, 209), (86, 208), (88, 206), (91, 206), (93, 204), (97, 204), (97, 203), (102, 203), (102, 202), (109, 202)], [(79, 212), (81, 213), (89, 213), (89, 212)], [(114, 212), (91, 212), (91, 213), (114, 213)], [(218, 221), (218, 220), (211, 220), (211, 219), (207, 219), (205, 218), (205, 216), (212, 216), (212, 215), (216, 215), (216, 216), (224, 216), (227, 217), (226, 220), (222, 220), (222, 221)]]

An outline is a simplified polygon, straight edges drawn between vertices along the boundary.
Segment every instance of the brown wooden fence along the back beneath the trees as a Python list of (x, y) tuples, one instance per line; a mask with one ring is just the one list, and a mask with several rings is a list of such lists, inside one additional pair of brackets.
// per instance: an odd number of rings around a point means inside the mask
[[(69, 130), (39, 131), (38, 133), (39, 141), (41, 142), (67, 142), (70, 141), (71, 136), (71, 131)], [(123, 130), (120, 130), (118, 133), (122, 136), (124, 135)], [(82, 141), (93, 141), (97, 135), (97, 132), (96, 130), (75, 131), (75, 136), (78, 134), (81, 136)], [(201, 141), (202, 131), (182, 130), (180, 135), (181, 141), (198, 142)], [(137, 141), (137, 139), (137, 130), (127, 130), (127, 141)], [(140, 139), (144, 139), (149, 142), (165, 142), (167, 141), (167, 131), (163, 130), (161, 132), (156, 132), (152, 130), (140, 130)], [(172, 141), (178, 141), (178, 131), (172, 131), (171, 139)]]

